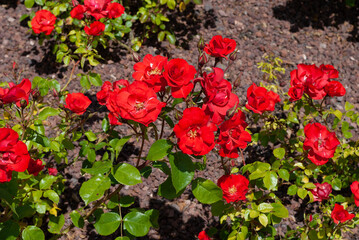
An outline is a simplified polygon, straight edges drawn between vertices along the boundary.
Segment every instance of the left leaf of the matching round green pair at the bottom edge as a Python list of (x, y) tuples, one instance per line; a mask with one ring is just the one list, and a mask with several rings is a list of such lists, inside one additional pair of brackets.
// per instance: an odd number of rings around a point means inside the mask
[(94, 224), (96, 231), (102, 236), (114, 233), (120, 226), (121, 217), (118, 213), (107, 212), (101, 214), (100, 219)]

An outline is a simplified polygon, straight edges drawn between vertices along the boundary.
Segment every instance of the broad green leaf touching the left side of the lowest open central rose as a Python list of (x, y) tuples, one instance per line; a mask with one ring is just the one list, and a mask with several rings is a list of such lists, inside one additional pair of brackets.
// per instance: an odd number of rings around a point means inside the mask
[(212, 204), (222, 200), (222, 189), (211, 180), (197, 178), (192, 182), (193, 195), (204, 204)]

